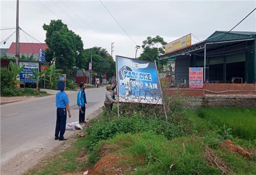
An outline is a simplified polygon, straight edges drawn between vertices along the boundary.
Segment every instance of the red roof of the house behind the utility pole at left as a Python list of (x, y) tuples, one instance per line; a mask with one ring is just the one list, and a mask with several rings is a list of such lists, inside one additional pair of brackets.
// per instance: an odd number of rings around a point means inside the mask
[[(48, 47), (46, 43), (27, 43), (27, 42), (19, 42), (19, 53), (22, 54), (38, 54), (39, 48), (45, 51)], [(12, 42), (10, 48), (7, 53), (16, 53), (16, 42)]]

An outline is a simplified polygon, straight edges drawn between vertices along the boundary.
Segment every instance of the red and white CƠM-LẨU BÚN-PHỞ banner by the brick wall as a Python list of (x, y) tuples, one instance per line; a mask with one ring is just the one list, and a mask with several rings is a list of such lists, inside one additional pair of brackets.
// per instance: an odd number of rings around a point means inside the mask
[(203, 68), (189, 68), (189, 88), (203, 88)]

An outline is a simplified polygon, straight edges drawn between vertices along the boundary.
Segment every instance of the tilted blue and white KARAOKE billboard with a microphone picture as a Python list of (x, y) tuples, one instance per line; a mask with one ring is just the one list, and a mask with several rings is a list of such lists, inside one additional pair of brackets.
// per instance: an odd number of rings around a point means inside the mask
[(119, 102), (163, 104), (155, 62), (116, 56)]

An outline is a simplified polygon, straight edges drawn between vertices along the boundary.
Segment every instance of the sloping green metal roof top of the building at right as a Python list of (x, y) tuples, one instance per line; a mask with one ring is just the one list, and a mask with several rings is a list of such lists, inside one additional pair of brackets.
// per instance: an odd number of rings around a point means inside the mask
[[(217, 41), (221, 37), (223, 37), (228, 31), (216, 31), (211, 34), (205, 41), (212, 42)], [(243, 31), (231, 31), (226, 34), (223, 38), (219, 41), (227, 41), (227, 40), (239, 40), (239, 39), (249, 39), (249, 38), (256, 38), (256, 32), (243, 32)]]

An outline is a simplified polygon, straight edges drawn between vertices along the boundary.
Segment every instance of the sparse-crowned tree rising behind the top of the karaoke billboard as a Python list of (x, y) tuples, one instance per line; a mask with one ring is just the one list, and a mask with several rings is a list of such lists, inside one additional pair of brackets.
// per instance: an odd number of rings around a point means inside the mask
[[(158, 57), (164, 54), (164, 47), (166, 42), (162, 37), (157, 35), (152, 38), (148, 36), (146, 40), (142, 41), (143, 53), (140, 55), (139, 59), (148, 61), (158, 61)], [(161, 61), (161, 65), (166, 64), (166, 60)]]

